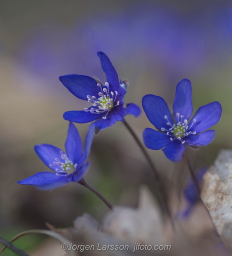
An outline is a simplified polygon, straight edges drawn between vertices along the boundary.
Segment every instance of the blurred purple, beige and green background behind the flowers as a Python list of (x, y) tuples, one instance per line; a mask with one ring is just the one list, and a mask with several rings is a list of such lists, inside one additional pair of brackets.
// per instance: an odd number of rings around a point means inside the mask
[[(214, 142), (194, 153), (194, 164), (201, 167), (212, 164), (220, 148), (232, 147), (231, 43), (229, 0), (1, 0), (1, 236), (10, 239), (22, 230), (45, 228), (45, 222), (69, 226), (83, 212), (100, 219), (107, 211), (79, 184), (38, 191), (16, 183), (48, 170), (34, 145), (64, 148), (68, 122), (63, 113), (88, 106), (64, 88), (60, 75), (105, 81), (96, 55), (104, 51), (119, 77), (130, 82), (125, 102), (141, 106), (145, 94), (156, 94), (170, 107), (176, 84), (190, 79), (195, 111), (212, 101), (223, 108)], [(144, 113), (126, 119), (140, 138), (145, 127), (152, 127)], [(84, 138), (88, 124), (76, 127)], [(162, 151), (149, 154), (160, 172), (173, 177), (175, 165)], [(152, 188), (149, 166), (122, 123), (95, 137), (90, 160), (86, 180), (112, 204), (135, 206), (139, 184)]]

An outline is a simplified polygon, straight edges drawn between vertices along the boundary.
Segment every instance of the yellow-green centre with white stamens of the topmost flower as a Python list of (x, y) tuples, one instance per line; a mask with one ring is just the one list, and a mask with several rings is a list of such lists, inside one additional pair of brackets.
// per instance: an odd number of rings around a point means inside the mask
[(110, 91), (110, 89), (109, 89), (110, 85), (108, 82), (105, 83), (106, 87), (104, 87), (104, 88), (102, 88), (103, 85), (100, 83), (97, 83), (97, 86), (100, 87), (100, 90), (101, 90), (98, 93), (98, 95), (100, 97), (96, 98), (95, 96), (87, 95), (88, 102), (92, 102), (93, 105), (92, 105), (91, 109), (85, 108), (84, 110), (86, 112), (89, 111), (92, 114), (102, 114), (104, 112), (107, 112), (107, 114), (104, 117), (102, 117), (103, 119), (106, 119), (109, 111), (111, 111), (111, 109), (114, 106), (118, 106), (120, 103), (120, 101), (118, 100), (117, 104), (116, 105), (114, 104), (114, 102), (116, 102), (118, 92)]

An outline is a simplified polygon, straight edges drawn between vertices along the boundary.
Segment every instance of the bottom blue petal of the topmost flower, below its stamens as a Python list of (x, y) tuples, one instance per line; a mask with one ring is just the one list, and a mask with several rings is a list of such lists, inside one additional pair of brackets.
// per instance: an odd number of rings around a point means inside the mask
[[(116, 111), (117, 110), (117, 111)], [(123, 112), (121, 114), (121, 112)], [(105, 112), (106, 115), (106, 112)], [(124, 116), (124, 110), (121, 111), (121, 108), (114, 107), (108, 115), (106, 116), (106, 119), (100, 118), (98, 119), (94, 124), (95, 127), (98, 128), (98, 130), (106, 129), (112, 125), (114, 125), (117, 121), (123, 121)]]

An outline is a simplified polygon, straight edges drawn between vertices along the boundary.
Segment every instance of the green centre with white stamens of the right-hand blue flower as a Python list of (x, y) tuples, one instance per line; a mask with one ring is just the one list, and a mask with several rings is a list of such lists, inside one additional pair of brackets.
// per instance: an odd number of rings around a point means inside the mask
[(183, 140), (184, 137), (190, 134), (192, 135), (196, 134), (195, 131), (194, 132), (190, 131), (193, 124), (196, 122), (196, 119), (193, 119), (191, 126), (188, 126), (188, 120), (184, 119), (184, 116), (180, 115), (179, 113), (176, 113), (176, 117), (177, 117), (177, 123), (171, 124), (171, 122), (168, 120), (168, 116), (164, 116), (164, 118), (168, 121), (167, 125), (171, 127), (169, 130), (162, 127), (161, 131), (167, 132), (167, 135), (171, 137), (170, 138), (171, 141), (173, 141), (174, 139), (177, 139), (177, 140), (180, 140), (182, 144), (184, 144), (185, 143), (185, 140)]

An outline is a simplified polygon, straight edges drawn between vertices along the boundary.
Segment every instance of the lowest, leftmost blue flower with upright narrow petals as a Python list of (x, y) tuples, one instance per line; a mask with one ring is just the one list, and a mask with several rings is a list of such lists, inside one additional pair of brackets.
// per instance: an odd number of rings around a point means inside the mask
[(68, 136), (65, 142), (65, 154), (60, 148), (41, 144), (35, 146), (35, 152), (44, 164), (54, 172), (41, 172), (18, 181), (23, 185), (35, 185), (38, 189), (48, 190), (61, 187), (67, 183), (79, 182), (89, 168), (86, 159), (90, 152), (94, 136), (94, 125), (89, 126), (85, 139), (85, 150), (82, 153), (82, 140), (75, 125), (70, 122)]

